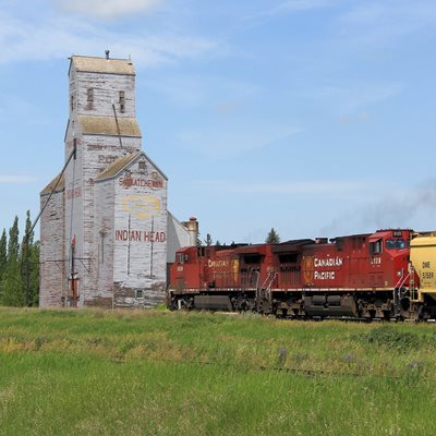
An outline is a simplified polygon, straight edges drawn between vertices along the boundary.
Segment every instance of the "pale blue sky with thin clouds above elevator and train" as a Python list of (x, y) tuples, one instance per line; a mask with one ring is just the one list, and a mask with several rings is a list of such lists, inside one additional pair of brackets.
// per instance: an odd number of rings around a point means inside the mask
[(128, 58), (202, 237), (436, 228), (434, 0), (0, 0), (0, 231), (63, 165), (68, 57)]

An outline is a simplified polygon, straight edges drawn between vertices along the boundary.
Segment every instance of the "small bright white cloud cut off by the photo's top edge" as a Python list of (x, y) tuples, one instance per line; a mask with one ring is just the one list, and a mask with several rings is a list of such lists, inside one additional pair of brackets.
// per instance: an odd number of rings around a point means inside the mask
[(55, 4), (63, 12), (104, 20), (149, 12), (161, 3), (164, 3), (164, 0), (55, 0)]

